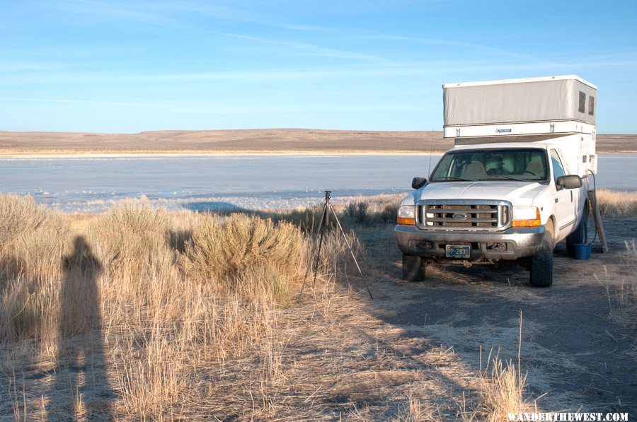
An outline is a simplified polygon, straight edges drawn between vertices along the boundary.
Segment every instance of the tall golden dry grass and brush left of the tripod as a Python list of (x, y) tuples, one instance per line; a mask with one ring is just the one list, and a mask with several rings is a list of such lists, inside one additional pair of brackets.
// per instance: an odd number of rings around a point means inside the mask
[[(117, 397), (110, 416), (126, 418), (185, 416), (201, 394), (200, 368), (242, 353), (259, 357), (261, 382), (285, 380), (277, 306), (298, 291), (316, 241), (297, 225), (168, 213), (143, 200), (65, 216), (20, 197), (0, 197), (0, 221), (0, 346), (33, 342), (56, 374), (32, 416), (96, 412), (87, 395), (64, 399), (88, 382), (67, 366), (87, 362), (104, 371), (93, 395)], [(346, 253), (328, 234), (321, 283), (343, 271), (334, 266)]]

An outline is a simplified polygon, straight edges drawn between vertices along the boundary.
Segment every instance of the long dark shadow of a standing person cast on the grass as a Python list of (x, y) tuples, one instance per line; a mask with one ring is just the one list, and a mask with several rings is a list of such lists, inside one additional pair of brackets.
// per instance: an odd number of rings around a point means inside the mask
[(57, 365), (49, 394), (50, 421), (113, 420), (115, 393), (106, 375), (98, 276), (103, 270), (83, 236), (62, 260)]

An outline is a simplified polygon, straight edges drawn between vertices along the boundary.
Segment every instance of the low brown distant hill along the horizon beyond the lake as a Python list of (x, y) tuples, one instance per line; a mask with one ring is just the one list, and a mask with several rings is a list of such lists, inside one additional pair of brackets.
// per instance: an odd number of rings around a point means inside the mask
[[(0, 155), (30, 153), (443, 152), (440, 131), (251, 129), (139, 134), (0, 131)], [(637, 153), (637, 134), (599, 134), (597, 152)]]

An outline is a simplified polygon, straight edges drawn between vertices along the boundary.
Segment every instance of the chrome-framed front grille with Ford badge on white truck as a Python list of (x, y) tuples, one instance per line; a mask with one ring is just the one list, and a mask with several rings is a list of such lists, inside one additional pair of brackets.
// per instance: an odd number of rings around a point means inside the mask
[(417, 225), (425, 229), (495, 231), (511, 224), (506, 201), (420, 201)]

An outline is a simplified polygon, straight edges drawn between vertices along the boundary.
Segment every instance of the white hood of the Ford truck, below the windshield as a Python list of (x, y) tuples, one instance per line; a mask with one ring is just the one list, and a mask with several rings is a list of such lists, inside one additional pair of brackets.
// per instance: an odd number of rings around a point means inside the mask
[(424, 199), (491, 199), (515, 205), (532, 205), (546, 185), (536, 182), (493, 180), (485, 182), (435, 182), (414, 192), (416, 201)]

